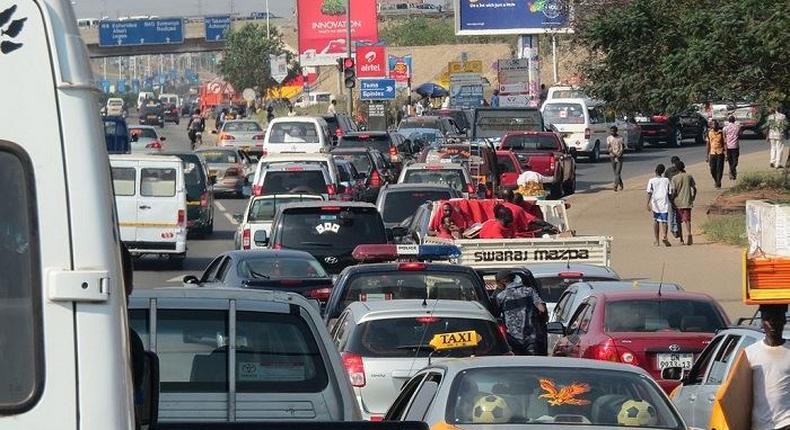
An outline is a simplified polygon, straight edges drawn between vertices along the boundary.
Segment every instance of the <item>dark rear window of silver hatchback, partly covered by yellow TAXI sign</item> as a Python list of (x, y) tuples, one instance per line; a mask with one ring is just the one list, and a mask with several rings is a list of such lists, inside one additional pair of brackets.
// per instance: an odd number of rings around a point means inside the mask
[[(478, 344), (431, 353), (428, 344), (435, 335), (463, 331), (476, 332), (480, 336)], [(346, 349), (363, 357), (469, 357), (510, 351), (496, 323), (477, 318), (420, 316), (373, 320), (360, 324), (348, 342)]]

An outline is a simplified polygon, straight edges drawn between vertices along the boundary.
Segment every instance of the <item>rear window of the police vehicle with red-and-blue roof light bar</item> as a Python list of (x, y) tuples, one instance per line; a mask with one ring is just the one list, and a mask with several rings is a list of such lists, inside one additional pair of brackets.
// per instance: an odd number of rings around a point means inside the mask
[(469, 275), (456, 272), (359, 273), (342, 292), (340, 308), (353, 302), (425, 298), (479, 302), (475, 285)]

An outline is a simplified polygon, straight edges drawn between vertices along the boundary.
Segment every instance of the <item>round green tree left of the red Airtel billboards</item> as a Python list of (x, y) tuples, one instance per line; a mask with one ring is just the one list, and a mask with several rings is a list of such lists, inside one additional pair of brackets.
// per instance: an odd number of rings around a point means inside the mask
[(257, 87), (261, 94), (277, 87), (272, 79), (269, 55), (285, 54), (290, 65), (286, 80), (296, 76), (299, 65), (294, 55), (285, 49), (282, 33), (271, 27), (270, 37), (266, 37), (266, 27), (247, 24), (239, 29), (231, 30), (225, 40), (225, 51), (219, 63), (220, 71), (225, 79), (237, 90)]

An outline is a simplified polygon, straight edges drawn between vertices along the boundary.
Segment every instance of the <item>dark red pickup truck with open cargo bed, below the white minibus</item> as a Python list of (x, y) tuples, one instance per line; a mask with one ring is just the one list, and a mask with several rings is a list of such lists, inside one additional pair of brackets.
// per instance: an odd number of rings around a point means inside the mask
[[(551, 131), (519, 131), (507, 133), (499, 143), (499, 150), (513, 151), (529, 170), (545, 176), (543, 183), (552, 198), (576, 192), (576, 160), (565, 142)], [(527, 170), (527, 169), (525, 169)]]

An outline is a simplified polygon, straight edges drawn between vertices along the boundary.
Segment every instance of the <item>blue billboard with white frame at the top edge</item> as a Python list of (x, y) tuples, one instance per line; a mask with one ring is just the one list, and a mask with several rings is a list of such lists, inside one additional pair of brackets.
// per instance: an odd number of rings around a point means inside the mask
[(562, 0), (455, 0), (458, 35), (569, 32)]

